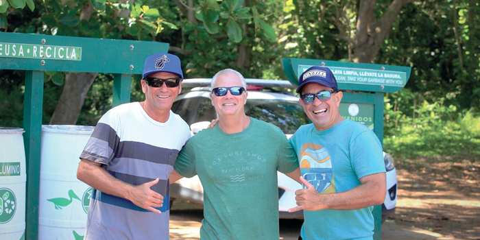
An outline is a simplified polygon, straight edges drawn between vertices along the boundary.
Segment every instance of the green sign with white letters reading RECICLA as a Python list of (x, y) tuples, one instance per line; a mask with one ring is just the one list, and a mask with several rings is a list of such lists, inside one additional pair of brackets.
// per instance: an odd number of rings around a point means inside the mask
[(0, 58), (82, 60), (82, 47), (0, 43)]

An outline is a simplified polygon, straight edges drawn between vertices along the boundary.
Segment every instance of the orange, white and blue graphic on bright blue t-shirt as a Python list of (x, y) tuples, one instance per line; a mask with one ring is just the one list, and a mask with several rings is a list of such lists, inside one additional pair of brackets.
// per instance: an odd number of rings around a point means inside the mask
[(300, 171), (302, 177), (317, 189), (319, 193), (335, 193), (332, 160), (328, 151), (313, 143), (305, 143), (300, 152)]

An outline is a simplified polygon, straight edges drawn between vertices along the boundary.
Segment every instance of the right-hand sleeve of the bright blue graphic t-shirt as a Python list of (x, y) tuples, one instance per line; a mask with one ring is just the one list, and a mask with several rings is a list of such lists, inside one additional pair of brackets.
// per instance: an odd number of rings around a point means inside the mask
[(381, 143), (370, 130), (361, 132), (350, 143), (350, 158), (358, 179), (370, 174), (385, 172)]

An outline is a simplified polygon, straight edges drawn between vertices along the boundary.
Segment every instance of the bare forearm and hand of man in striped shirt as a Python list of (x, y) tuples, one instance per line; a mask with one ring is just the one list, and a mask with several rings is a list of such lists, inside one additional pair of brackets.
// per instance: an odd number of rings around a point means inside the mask
[(133, 186), (114, 178), (108, 171), (101, 168), (100, 163), (86, 159), (80, 161), (77, 169), (77, 178), (94, 189), (117, 197), (123, 197), (136, 206), (154, 213), (160, 213), (156, 208), (163, 206), (163, 196), (150, 189), (150, 187), (158, 183), (158, 178), (151, 182)]

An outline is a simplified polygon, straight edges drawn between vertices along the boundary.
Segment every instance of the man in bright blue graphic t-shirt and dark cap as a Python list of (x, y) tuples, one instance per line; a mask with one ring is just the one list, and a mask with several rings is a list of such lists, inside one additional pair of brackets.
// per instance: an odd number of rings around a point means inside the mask
[(385, 200), (385, 166), (376, 135), (339, 113), (342, 93), (330, 69), (311, 67), (300, 75), (297, 93), (312, 121), (290, 138), (300, 162), (304, 189), (300, 238), (373, 239), (373, 206)]

